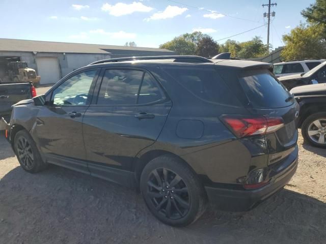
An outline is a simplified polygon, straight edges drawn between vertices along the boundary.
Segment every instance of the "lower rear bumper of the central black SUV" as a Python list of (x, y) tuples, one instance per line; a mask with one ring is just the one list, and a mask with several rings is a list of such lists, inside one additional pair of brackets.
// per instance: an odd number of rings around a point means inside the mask
[(280, 170), (269, 181), (269, 184), (256, 190), (233, 190), (205, 187), (208, 199), (219, 209), (227, 211), (247, 211), (254, 208), (271, 195), (283, 189), (294, 175), (298, 157), (297, 148), (289, 156), (290, 162), (279, 166), (274, 166), (275, 170)]

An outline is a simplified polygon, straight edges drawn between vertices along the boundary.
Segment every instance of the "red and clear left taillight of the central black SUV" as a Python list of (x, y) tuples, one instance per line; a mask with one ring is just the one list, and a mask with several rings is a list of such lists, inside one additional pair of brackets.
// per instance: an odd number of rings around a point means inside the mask
[(237, 138), (265, 135), (284, 126), (281, 117), (222, 115), (220, 119)]

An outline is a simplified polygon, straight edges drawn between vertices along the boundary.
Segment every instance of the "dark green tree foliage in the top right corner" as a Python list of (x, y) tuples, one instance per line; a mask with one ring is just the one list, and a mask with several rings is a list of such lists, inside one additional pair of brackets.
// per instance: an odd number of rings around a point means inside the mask
[(301, 14), (311, 24), (322, 25), (323, 39), (326, 40), (326, 0), (316, 0), (315, 4), (301, 11)]

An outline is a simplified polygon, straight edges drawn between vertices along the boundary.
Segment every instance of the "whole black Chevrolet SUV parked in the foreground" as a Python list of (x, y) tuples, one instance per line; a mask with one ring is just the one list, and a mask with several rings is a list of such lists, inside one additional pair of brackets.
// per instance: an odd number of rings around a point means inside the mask
[(248, 210), (297, 167), (299, 106), (270, 64), (198, 56), (100, 60), (13, 107), (20, 165), (56, 164), (140, 189), (152, 214), (194, 222), (207, 200)]

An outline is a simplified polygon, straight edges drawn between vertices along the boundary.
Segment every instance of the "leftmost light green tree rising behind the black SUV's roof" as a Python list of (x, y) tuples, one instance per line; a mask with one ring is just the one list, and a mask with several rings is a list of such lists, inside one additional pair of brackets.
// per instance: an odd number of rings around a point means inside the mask
[(175, 37), (172, 41), (159, 45), (159, 48), (165, 48), (176, 52), (179, 55), (194, 55), (196, 44), (187, 41), (184, 37)]

